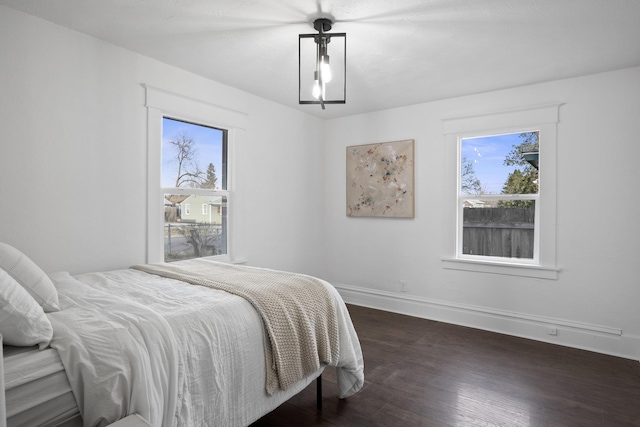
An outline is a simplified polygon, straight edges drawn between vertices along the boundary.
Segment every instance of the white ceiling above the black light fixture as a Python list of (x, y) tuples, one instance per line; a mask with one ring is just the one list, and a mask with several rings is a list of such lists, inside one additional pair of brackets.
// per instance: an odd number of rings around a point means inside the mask
[[(322, 118), (640, 65), (638, 0), (0, 0)], [(347, 33), (347, 102), (298, 104), (298, 34)], [(331, 53), (331, 51), (329, 52)]]

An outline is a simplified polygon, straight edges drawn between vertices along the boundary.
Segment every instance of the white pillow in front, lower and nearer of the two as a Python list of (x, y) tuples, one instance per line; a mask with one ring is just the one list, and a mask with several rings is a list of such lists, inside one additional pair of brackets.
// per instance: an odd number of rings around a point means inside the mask
[(5, 344), (39, 345), (53, 337), (51, 322), (36, 300), (13, 277), (0, 269), (0, 334)]

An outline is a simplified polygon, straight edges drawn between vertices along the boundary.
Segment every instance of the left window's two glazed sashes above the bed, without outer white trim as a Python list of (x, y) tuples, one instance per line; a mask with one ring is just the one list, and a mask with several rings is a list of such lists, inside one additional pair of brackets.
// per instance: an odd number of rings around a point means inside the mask
[[(165, 262), (227, 254), (226, 177), (226, 130), (163, 117)], [(222, 214), (210, 216), (209, 204)]]

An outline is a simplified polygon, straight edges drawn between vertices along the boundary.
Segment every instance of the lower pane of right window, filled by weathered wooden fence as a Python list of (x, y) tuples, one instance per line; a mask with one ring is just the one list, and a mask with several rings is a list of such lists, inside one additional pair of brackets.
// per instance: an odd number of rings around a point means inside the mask
[(535, 201), (464, 200), (462, 253), (533, 259)]

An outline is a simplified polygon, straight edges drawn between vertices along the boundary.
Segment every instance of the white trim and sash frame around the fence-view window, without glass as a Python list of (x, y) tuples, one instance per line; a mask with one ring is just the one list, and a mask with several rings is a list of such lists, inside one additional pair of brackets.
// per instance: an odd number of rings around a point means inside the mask
[[(443, 267), (446, 269), (507, 274), (542, 279), (557, 279), (556, 265), (556, 193), (557, 125), (561, 104), (535, 106), (475, 116), (443, 120), (445, 135), (446, 234)], [(499, 258), (462, 254), (462, 199), (460, 194), (461, 141), (464, 138), (520, 132), (539, 132), (539, 194), (522, 195), (535, 200), (534, 258)], [(473, 196), (475, 197), (475, 196)], [(484, 196), (487, 197), (487, 196)], [(520, 198), (521, 196), (514, 196)], [(504, 195), (489, 196), (504, 200)]]

